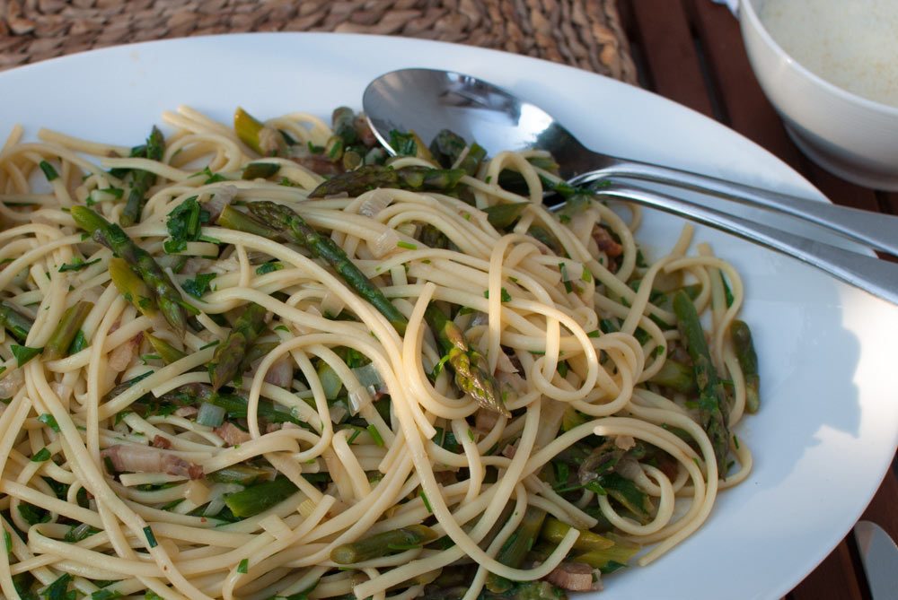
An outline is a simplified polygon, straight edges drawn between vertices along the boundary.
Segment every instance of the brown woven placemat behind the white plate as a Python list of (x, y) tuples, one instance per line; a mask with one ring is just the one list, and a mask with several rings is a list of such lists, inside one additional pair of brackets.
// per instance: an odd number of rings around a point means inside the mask
[(615, 0), (0, 0), (0, 70), (91, 48), (243, 31), (440, 39), (636, 82)]

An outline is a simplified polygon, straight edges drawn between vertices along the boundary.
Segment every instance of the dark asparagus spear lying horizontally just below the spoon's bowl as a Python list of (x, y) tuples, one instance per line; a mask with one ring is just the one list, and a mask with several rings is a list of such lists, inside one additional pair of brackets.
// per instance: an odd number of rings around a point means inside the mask
[(430, 169), (428, 167), (402, 167), (392, 169), (380, 165), (364, 165), (357, 170), (340, 173), (315, 187), (310, 198), (322, 198), (337, 194), (359, 196), (377, 187), (396, 187), (410, 190), (452, 191), (464, 175), (461, 169)]

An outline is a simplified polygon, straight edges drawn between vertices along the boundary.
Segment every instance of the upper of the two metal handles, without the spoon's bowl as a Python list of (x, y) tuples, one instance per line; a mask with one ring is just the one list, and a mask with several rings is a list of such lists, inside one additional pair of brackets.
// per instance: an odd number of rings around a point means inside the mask
[(742, 204), (761, 206), (813, 222), (876, 250), (898, 256), (898, 216), (871, 213), (857, 208), (827, 204), (798, 196), (781, 194), (761, 187), (747, 186), (685, 170), (660, 167), (645, 162), (617, 159), (607, 161), (603, 169), (571, 179), (583, 185), (598, 179), (629, 178), (680, 187), (693, 192), (718, 196)]

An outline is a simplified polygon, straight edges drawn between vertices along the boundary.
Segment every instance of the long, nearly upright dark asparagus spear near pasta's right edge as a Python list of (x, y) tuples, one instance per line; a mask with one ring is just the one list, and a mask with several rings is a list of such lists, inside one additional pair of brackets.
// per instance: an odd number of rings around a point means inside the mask
[(729, 449), (729, 428), (726, 425), (726, 396), (724, 387), (718, 378), (718, 371), (711, 362), (705, 332), (701, 329), (699, 315), (695, 311), (689, 295), (685, 291), (674, 294), (674, 315), (680, 329), (682, 342), (686, 345), (692, 359), (696, 384), (699, 387), (699, 420), (708, 433), (714, 456), (717, 458), (718, 471), (726, 475), (726, 453)]

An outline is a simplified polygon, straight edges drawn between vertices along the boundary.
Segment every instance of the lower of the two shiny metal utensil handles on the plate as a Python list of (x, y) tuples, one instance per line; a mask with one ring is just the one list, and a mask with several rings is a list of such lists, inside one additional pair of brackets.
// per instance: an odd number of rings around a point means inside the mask
[(898, 264), (836, 248), (768, 225), (639, 187), (612, 184), (598, 192), (621, 200), (645, 204), (733, 233), (767, 248), (796, 257), (861, 290), (898, 304)]

